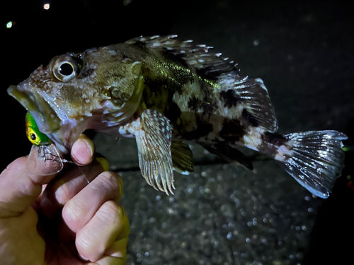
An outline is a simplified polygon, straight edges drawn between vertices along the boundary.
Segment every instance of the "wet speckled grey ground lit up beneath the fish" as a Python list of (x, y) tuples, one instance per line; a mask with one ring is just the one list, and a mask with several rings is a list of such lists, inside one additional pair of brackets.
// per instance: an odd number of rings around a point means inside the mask
[[(232, 164), (196, 165), (176, 173), (174, 196), (156, 192), (137, 167), (136, 145), (96, 139), (97, 151), (125, 183), (122, 204), (130, 219), (127, 264), (297, 264), (308, 247), (321, 199), (289, 177), (273, 160), (255, 170)], [(101, 144), (105, 142), (105, 144)], [(199, 146), (196, 163), (215, 163)], [(195, 150), (197, 149), (197, 150)], [(117, 150), (125, 150), (117, 155)], [(126, 152), (129, 152), (127, 155)]]

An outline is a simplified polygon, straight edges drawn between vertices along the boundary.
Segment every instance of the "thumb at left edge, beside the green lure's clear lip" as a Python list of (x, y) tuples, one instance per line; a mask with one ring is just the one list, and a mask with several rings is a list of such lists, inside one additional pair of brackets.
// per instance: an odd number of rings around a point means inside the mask
[(19, 216), (40, 196), (55, 175), (28, 172), (27, 157), (14, 160), (0, 175), (0, 218)]

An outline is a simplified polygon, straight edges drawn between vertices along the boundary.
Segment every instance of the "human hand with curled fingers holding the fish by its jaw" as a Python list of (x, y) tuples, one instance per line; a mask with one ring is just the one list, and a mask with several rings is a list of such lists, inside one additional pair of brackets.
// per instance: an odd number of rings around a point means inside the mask
[(125, 263), (130, 227), (118, 204), (122, 179), (103, 172), (107, 160), (93, 156), (93, 143), (83, 134), (72, 147), (72, 160), (85, 167), (33, 175), (22, 157), (1, 173), (1, 265)]

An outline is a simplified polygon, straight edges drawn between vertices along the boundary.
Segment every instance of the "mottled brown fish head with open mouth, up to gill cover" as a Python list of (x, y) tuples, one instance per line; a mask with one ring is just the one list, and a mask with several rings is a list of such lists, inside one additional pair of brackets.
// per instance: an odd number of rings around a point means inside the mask
[(32, 114), (38, 129), (60, 151), (68, 153), (85, 129), (117, 126), (139, 106), (142, 64), (112, 54), (102, 47), (54, 57), (10, 86), (8, 94)]

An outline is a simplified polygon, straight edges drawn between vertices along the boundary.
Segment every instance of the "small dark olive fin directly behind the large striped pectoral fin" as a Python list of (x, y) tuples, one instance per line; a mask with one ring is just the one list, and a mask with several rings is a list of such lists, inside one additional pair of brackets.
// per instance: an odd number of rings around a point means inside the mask
[(189, 175), (191, 172), (194, 172), (193, 153), (190, 151), (187, 143), (173, 139), (171, 153), (173, 170), (183, 175)]

